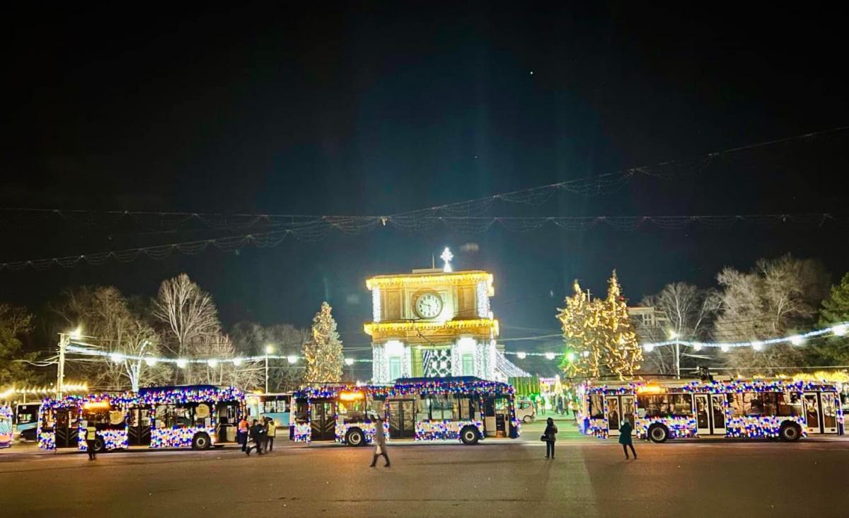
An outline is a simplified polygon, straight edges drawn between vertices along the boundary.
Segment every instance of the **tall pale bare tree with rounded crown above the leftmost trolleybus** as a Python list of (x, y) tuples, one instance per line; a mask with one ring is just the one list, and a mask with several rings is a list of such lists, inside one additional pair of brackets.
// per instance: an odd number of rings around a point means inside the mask
[[(193, 345), (220, 333), (215, 302), (185, 273), (162, 282), (153, 313), (165, 327), (163, 345), (179, 358), (185, 358)], [(190, 366), (184, 369), (185, 380), (191, 378)]]

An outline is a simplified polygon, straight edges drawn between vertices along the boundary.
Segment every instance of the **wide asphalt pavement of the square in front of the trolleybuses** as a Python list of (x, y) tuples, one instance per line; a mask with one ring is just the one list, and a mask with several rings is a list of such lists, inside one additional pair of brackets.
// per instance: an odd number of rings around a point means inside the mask
[(371, 448), (278, 442), (239, 448), (0, 453), (0, 516), (846, 516), (849, 441), (636, 442), (577, 434), (559, 420), (557, 458), (542, 423), (520, 440), (390, 443)]

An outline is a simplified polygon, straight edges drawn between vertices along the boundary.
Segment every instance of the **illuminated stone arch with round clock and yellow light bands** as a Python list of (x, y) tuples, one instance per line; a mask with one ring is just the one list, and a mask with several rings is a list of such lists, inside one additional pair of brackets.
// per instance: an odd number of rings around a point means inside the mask
[(413, 270), (366, 281), (372, 293), (374, 383), (398, 378), (477, 376), (500, 380), (492, 273)]

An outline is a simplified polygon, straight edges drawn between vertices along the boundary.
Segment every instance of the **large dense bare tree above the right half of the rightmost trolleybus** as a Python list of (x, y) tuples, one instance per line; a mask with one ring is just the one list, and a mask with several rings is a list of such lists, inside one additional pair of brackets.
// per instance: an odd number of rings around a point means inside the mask
[[(717, 275), (721, 309), (714, 324), (717, 341), (752, 341), (786, 335), (814, 324), (828, 293), (829, 274), (817, 261), (760, 259), (749, 273), (726, 267)], [(761, 350), (735, 348), (727, 355), (732, 369), (791, 367), (802, 359), (797, 346), (778, 344)], [(749, 373), (751, 374), (751, 373)]]

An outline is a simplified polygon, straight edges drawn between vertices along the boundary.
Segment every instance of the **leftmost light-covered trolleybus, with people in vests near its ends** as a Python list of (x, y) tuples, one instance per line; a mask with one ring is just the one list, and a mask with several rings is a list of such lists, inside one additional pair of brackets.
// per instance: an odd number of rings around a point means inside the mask
[(84, 451), (86, 427), (92, 421), (98, 452), (130, 446), (222, 446), (236, 442), (244, 405), (245, 395), (238, 389), (208, 385), (45, 399), (39, 414), (38, 447)]

